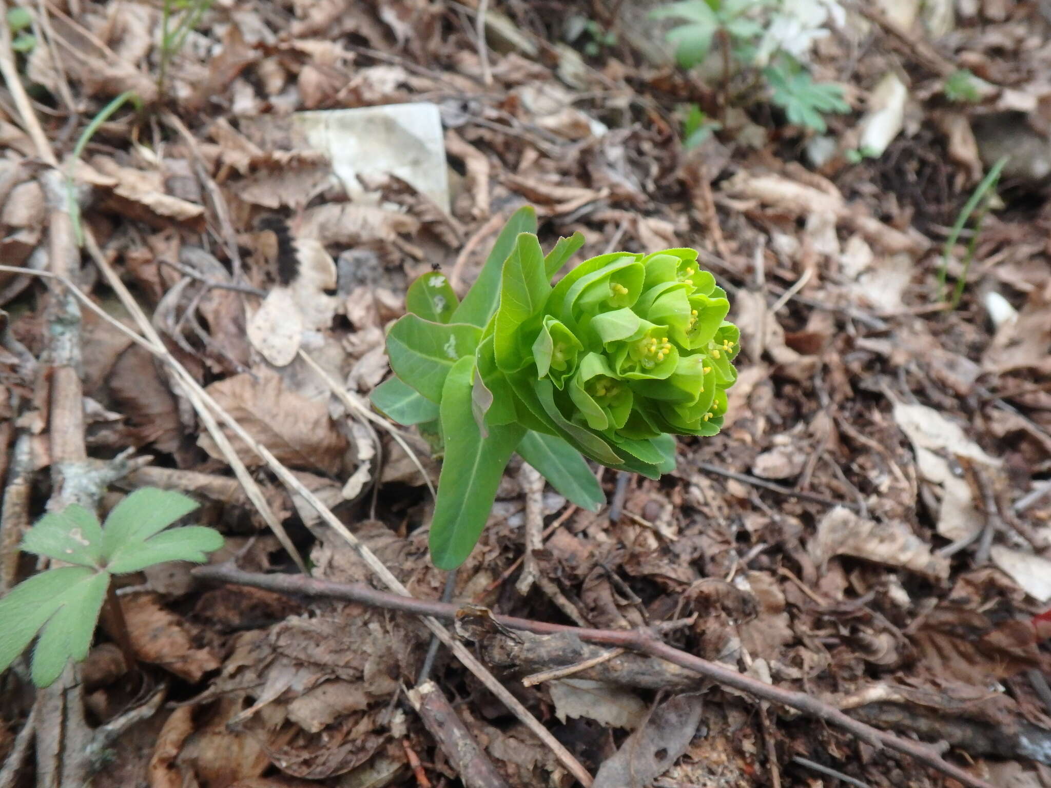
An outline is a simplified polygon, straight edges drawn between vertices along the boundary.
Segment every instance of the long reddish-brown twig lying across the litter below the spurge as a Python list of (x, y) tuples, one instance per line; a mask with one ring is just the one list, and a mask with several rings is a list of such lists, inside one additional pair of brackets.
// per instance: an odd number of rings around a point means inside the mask
[[(212, 580), (240, 585), (250, 585), (257, 588), (267, 588), (281, 594), (297, 594), (307, 597), (321, 597), (328, 599), (342, 599), (363, 604), (384, 607), (386, 609), (400, 610), (417, 616), (429, 616), (432, 618), (454, 619), (457, 606), (431, 600), (414, 599), (409, 596), (397, 594), (387, 594), (376, 590), (364, 584), (334, 583), (328, 580), (317, 580), (314, 578), (293, 575), (264, 575), (261, 573), (242, 572), (228, 564), (217, 566), (201, 566), (192, 571), (192, 574), (203, 580)], [(650, 630), (617, 630), (617, 629), (592, 629), (585, 627), (566, 626), (563, 624), (551, 624), (542, 621), (531, 621), (513, 616), (494, 616), (494, 620), (511, 629), (521, 629), (539, 635), (551, 635), (554, 633), (574, 633), (578, 638), (591, 643), (600, 643), (607, 646), (620, 646), (634, 651), (650, 655), (661, 660), (666, 660), (675, 665), (679, 665), (688, 670), (693, 670), (701, 676), (712, 679), (724, 686), (731, 687), (742, 692), (747, 692), (761, 700), (771, 703), (779, 703), (783, 706), (803, 711), (811, 717), (824, 720), (849, 731), (862, 741), (874, 747), (888, 747), (911, 755), (916, 761), (930, 766), (943, 774), (948, 774), (960, 783), (971, 786), (971, 788), (992, 788), (989, 783), (980, 780), (963, 769), (945, 762), (941, 755), (931, 747), (914, 742), (894, 733), (879, 730), (870, 725), (854, 720), (834, 706), (825, 703), (819, 698), (785, 689), (772, 684), (766, 684), (750, 676), (740, 673), (737, 670), (720, 665), (715, 662), (696, 657), (686, 651), (667, 645), (658, 640)]]

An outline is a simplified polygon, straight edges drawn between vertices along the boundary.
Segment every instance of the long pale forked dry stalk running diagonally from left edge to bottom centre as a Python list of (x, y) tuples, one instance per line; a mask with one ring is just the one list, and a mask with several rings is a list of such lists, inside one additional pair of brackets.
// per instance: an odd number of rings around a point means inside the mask
[[(88, 235), (87, 240), (88, 240), (87, 244), (88, 251), (91, 252), (91, 256), (94, 257), (96, 264), (102, 269), (109, 286), (118, 294), (118, 297), (121, 299), (121, 303), (132, 314), (132, 316), (136, 318), (136, 322), (139, 324), (140, 329), (144, 333), (146, 333), (149, 336), (157, 336), (157, 332), (153, 330), (153, 327), (149, 324), (149, 320), (146, 318), (146, 315), (142, 312), (142, 309), (139, 307), (135, 298), (131, 296), (131, 293), (128, 291), (128, 289), (124, 286), (124, 283), (117, 275), (116, 271), (112, 270), (112, 267), (101, 254), (101, 251), (99, 250), (98, 245), (95, 244), (94, 239), (91, 239), (90, 235)], [(22, 269), (12, 268), (11, 266), (0, 266), (0, 271), (21, 272)], [(223, 419), (223, 421), (230, 429), (230, 431), (233, 432), (239, 438), (241, 438), (249, 449), (255, 452), (255, 454), (257, 454), (263, 459), (263, 461), (266, 462), (266, 464), (270, 468), (270, 470), (273, 471), (273, 473), (282, 480), (282, 482), (286, 486), (288, 486), (290, 490), (293, 490), (304, 500), (306, 500), (307, 503), (313, 506), (314, 510), (316, 510), (317, 514), (321, 516), (321, 518), (325, 520), (325, 522), (329, 526), (331, 526), (337, 534), (339, 534), (339, 536), (342, 536), (355, 551), (357, 551), (358, 555), (362, 557), (362, 560), (365, 561), (365, 563), (369, 566), (369, 568), (371, 568), (389, 588), (394, 590), (396, 594), (406, 597), (409, 596), (408, 588), (406, 588), (405, 585), (403, 585), (401, 582), (396, 577), (394, 577), (391, 571), (388, 569), (387, 566), (384, 565), (384, 563), (378, 558), (376, 558), (375, 554), (373, 554), (372, 551), (368, 548), (368, 546), (363, 544), (360, 540), (358, 540), (358, 538), (354, 536), (347, 528), (347, 526), (344, 525), (336, 518), (335, 515), (332, 514), (332, 512), (328, 509), (328, 506), (326, 506), (317, 498), (317, 496), (315, 496), (310, 490), (308, 490), (265, 447), (257, 443), (251, 437), (251, 435), (249, 435), (244, 430), (244, 428), (241, 427), (241, 424), (236, 421), (236, 419), (230, 416), (230, 414), (228, 414), (218, 402), (215, 402), (215, 400), (212, 399), (211, 396), (198, 385), (197, 380), (193, 379), (193, 377), (189, 374), (189, 372), (187, 372), (186, 369), (181, 364), (179, 364), (179, 361), (173, 356), (171, 356), (171, 354), (167, 351), (167, 349), (164, 347), (163, 344), (159, 341), (157, 344), (154, 344), (153, 341), (149, 341), (144, 337), (140, 336), (139, 334), (137, 334), (136, 332), (128, 329), (123, 324), (115, 320), (104, 310), (98, 307), (90, 298), (88, 298), (87, 295), (85, 295), (68, 278), (62, 276), (55, 276), (54, 274), (49, 274), (46, 271), (34, 271), (33, 274), (38, 276), (55, 278), (62, 282), (62, 284), (65, 285), (69, 289), (69, 291), (74, 293), (74, 295), (82, 304), (87, 306), (88, 309), (94, 311), (96, 314), (98, 314), (104, 320), (112, 325), (122, 333), (132, 337), (133, 341), (138, 343), (147, 351), (149, 351), (151, 354), (153, 354), (154, 356), (163, 360), (165, 364), (167, 364), (171, 368), (171, 370), (176, 373), (176, 375), (179, 376), (180, 380), (184, 383), (187, 390), (194, 391), (194, 393), (202, 400), (202, 402), (206, 403), (208, 408), (214, 411), (214, 413), (220, 418)], [(221, 431), (220, 434), (222, 434)], [(571, 774), (573, 774), (573, 776), (576, 777), (577, 781), (581, 783), (581, 785), (585, 786), (585, 788), (591, 786), (593, 782), (591, 774), (588, 772), (586, 769), (584, 769), (583, 766), (580, 765), (580, 762), (573, 756), (573, 753), (571, 753), (568, 749), (565, 749), (565, 747), (562, 746), (562, 744), (557, 739), (555, 739), (554, 735), (552, 735), (551, 731), (549, 731), (545, 727), (543, 727), (543, 725), (540, 724), (540, 721), (537, 720), (529, 711), (529, 709), (527, 709), (521, 704), (521, 702), (518, 701), (518, 699), (516, 699), (513, 694), (511, 694), (508, 688), (504, 687), (502, 684), (500, 684), (485, 665), (482, 665), (480, 662), (478, 662), (477, 659), (475, 659), (474, 655), (472, 655), (462, 643), (453, 638), (452, 635), (449, 634), (449, 630), (446, 629), (445, 626), (442, 626), (434, 619), (425, 618), (423, 619), (423, 621), (424, 624), (432, 633), (438, 636), (438, 638), (441, 640), (442, 643), (445, 643), (450, 649), (452, 649), (453, 655), (455, 655), (455, 657), (463, 664), (463, 666), (467, 667), (472, 673), (474, 673), (475, 677), (477, 677), (478, 680), (491, 692), (493, 692), (493, 694), (495, 694), (508, 707), (508, 709), (510, 709), (511, 712), (514, 713), (515, 717), (517, 717), (522, 722), (522, 724), (526, 725), (526, 727), (532, 730), (536, 734), (536, 737), (547, 747), (549, 747), (552, 750), (552, 752), (555, 753), (555, 756), (561, 762), (561, 764), (566, 768), (566, 770)]]

